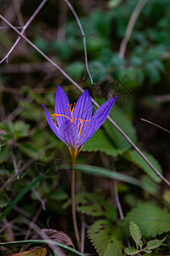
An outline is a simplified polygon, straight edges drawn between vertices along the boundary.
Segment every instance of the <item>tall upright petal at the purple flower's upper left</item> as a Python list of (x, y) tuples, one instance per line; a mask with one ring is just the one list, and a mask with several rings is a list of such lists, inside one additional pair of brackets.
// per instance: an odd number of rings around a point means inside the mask
[[(65, 111), (68, 110), (68, 111)], [(70, 102), (68, 97), (65, 94), (65, 91), (61, 89), (59, 85), (57, 85), (57, 92), (55, 96), (55, 113), (58, 114), (65, 114), (69, 118), (71, 118), (71, 111), (70, 111)], [(57, 116), (57, 124), (60, 126), (65, 122), (65, 117)]]

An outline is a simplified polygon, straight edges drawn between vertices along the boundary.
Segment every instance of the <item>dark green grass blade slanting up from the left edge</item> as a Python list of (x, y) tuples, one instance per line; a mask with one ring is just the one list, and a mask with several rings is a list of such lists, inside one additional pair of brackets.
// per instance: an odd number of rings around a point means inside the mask
[(20, 201), (20, 199), (21, 199), (24, 195), (26, 195), (26, 193), (27, 193), (38, 181), (40, 181), (40, 180), (42, 179), (42, 177), (44, 177), (44, 176), (40, 175), (40, 176), (34, 178), (34, 179), (31, 181), (31, 183), (26, 186), (25, 189), (23, 189), (23, 190), (20, 191), (20, 194), (17, 195), (17, 196), (15, 197), (14, 201), (12, 201), (12, 202), (8, 205), (8, 207), (2, 212), (2, 214), (0, 215), (0, 221), (2, 221), (2, 219), (7, 216), (8, 212), (10, 212), (10, 211), (13, 209), (13, 207)]

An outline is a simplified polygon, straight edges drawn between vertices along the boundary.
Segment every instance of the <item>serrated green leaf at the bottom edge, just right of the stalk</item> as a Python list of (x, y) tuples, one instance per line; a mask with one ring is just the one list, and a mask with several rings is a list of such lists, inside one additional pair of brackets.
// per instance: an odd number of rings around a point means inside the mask
[(88, 230), (88, 236), (100, 256), (122, 256), (119, 231), (105, 219), (97, 220)]

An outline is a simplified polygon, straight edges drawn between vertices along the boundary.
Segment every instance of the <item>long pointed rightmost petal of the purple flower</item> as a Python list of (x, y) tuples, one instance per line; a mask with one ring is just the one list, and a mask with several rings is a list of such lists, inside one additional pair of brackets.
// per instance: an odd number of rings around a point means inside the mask
[(94, 113), (93, 118), (90, 122), (88, 122), (88, 125), (84, 125), (82, 129), (82, 134), (80, 137), (80, 146), (83, 143), (86, 143), (90, 137), (94, 135), (94, 132), (99, 129), (99, 126), (102, 125), (107, 118), (108, 114), (110, 113), (110, 110), (113, 106), (113, 104), (116, 102), (116, 97), (111, 98), (111, 100), (105, 102), (102, 104)]

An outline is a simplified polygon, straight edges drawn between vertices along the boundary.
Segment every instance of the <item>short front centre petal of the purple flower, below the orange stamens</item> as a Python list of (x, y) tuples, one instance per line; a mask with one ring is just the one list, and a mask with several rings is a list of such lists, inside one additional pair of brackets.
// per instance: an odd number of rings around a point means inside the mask
[(77, 125), (71, 123), (70, 120), (66, 120), (61, 126), (59, 126), (59, 137), (67, 145), (68, 148), (79, 147), (79, 136)]

